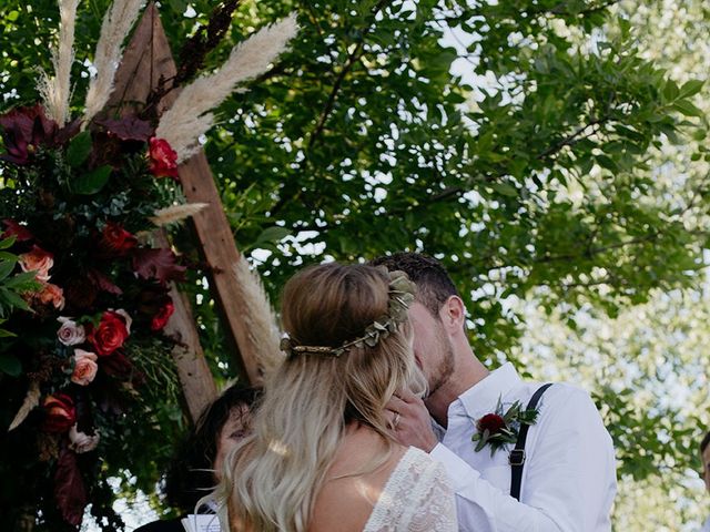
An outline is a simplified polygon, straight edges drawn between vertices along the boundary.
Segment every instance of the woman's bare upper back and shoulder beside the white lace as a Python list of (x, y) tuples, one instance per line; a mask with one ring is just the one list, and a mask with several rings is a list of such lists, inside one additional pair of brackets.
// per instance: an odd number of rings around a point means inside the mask
[(310, 532), (362, 531), (406, 448), (374, 430), (349, 430), (316, 497)]

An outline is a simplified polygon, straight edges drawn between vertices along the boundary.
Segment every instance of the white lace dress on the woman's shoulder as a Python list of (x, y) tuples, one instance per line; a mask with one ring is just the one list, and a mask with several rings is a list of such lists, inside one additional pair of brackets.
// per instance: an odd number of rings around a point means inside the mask
[(444, 467), (409, 448), (387, 479), (363, 532), (455, 532), (456, 501)]

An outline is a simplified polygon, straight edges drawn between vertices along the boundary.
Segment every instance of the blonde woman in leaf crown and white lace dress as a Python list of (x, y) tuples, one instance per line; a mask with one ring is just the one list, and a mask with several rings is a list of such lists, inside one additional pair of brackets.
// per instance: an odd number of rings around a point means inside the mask
[(287, 358), (219, 487), (231, 532), (457, 530), (444, 469), (396, 443), (385, 410), (397, 390), (424, 392), (414, 289), (368, 265), (315, 266), (286, 284)]

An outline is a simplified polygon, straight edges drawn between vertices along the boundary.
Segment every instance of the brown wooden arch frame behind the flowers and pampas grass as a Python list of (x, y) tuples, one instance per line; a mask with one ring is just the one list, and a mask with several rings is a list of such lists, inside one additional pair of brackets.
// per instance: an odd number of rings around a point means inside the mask
[[(151, 1), (126, 47), (108, 106), (130, 105), (132, 102), (144, 103), (151, 91), (159, 85), (161, 78), (170, 83), (175, 73), (175, 62), (160, 14)], [(159, 113), (169, 109), (178, 94), (179, 90), (170, 91), (160, 102)], [(207, 207), (193, 216), (192, 223), (210, 268), (212, 294), (221, 307), (227, 326), (227, 337), (236, 351), (236, 362), (248, 380), (256, 383), (261, 380), (257, 357), (252, 351), (248, 331), (242, 319), (243, 296), (233, 275), (233, 265), (241, 257), (204, 152), (200, 151), (181, 164), (179, 174), (187, 201), (207, 204)], [(214, 398), (216, 391), (197, 340), (199, 335), (189, 301), (174, 288), (171, 295), (175, 303), (175, 313), (169, 323), (168, 330), (179, 335), (184, 346), (173, 355), (185, 399), (194, 417), (195, 412)]]

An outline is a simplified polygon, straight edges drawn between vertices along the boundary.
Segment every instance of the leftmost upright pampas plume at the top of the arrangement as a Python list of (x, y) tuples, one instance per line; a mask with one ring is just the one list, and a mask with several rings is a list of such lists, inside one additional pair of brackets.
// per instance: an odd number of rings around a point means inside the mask
[(37, 80), (47, 115), (60, 126), (69, 122), (71, 64), (74, 62), (74, 27), (79, 0), (59, 0), (59, 43), (52, 49), (54, 75), (43, 70)]

